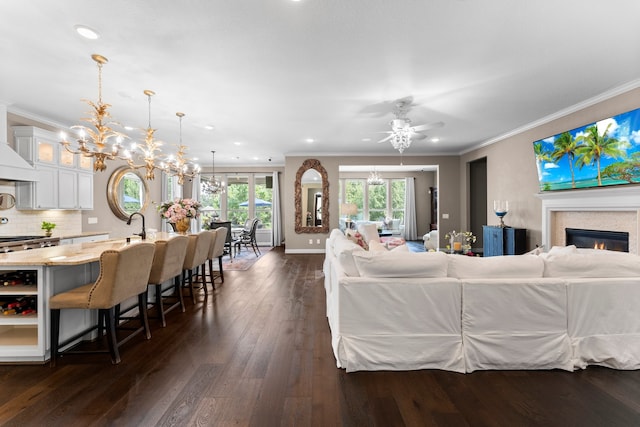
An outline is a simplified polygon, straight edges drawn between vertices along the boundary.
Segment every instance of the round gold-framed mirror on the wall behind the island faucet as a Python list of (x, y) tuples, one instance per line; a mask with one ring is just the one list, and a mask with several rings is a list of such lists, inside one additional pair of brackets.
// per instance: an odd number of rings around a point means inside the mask
[(129, 219), (134, 212), (143, 212), (149, 205), (149, 186), (135, 169), (121, 166), (109, 177), (107, 201), (115, 216)]

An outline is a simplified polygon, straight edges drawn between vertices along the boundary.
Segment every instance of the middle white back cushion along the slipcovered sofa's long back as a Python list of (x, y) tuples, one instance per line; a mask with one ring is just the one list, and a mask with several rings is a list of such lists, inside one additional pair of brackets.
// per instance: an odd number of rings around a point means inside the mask
[(542, 277), (544, 261), (534, 255), (472, 257), (447, 255), (449, 277), (458, 279), (500, 279)]

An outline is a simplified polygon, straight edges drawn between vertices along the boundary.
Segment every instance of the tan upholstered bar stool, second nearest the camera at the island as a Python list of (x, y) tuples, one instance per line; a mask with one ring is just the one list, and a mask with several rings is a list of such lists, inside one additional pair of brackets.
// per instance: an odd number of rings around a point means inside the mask
[[(156, 240), (156, 250), (153, 256), (153, 265), (149, 275), (149, 286), (155, 286), (155, 307), (162, 327), (167, 326), (165, 315), (180, 306), (184, 313), (184, 300), (180, 289), (180, 274), (184, 265), (184, 258), (187, 254), (187, 236), (175, 236), (169, 240)], [(173, 286), (162, 289), (162, 284), (168, 280), (173, 280)], [(165, 295), (167, 291), (173, 291), (173, 295)], [(163, 300), (173, 299), (173, 304), (164, 306)]]

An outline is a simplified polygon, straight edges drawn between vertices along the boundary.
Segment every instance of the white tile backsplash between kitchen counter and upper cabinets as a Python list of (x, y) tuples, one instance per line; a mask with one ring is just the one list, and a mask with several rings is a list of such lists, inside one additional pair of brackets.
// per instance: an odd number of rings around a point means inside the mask
[[(0, 193), (15, 195), (15, 185), (0, 182)], [(82, 211), (79, 210), (24, 211), (13, 207), (0, 210), (0, 217), (8, 219), (6, 224), (0, 224), (0, 236), (44, 235), (44, 230), (40, 229), (42, 221), (56, 224), (53, 236), (77, 235), (82, 232)]]

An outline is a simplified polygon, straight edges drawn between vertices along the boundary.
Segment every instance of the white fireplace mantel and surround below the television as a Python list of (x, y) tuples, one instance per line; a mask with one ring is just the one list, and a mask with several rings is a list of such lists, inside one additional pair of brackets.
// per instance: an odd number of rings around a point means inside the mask
[(640, 186), (605, 187), (539, 193), (542, 200), (542, 244), (565, 244), (566, 227), (626, 231), (629, 252), (640, 254)]

